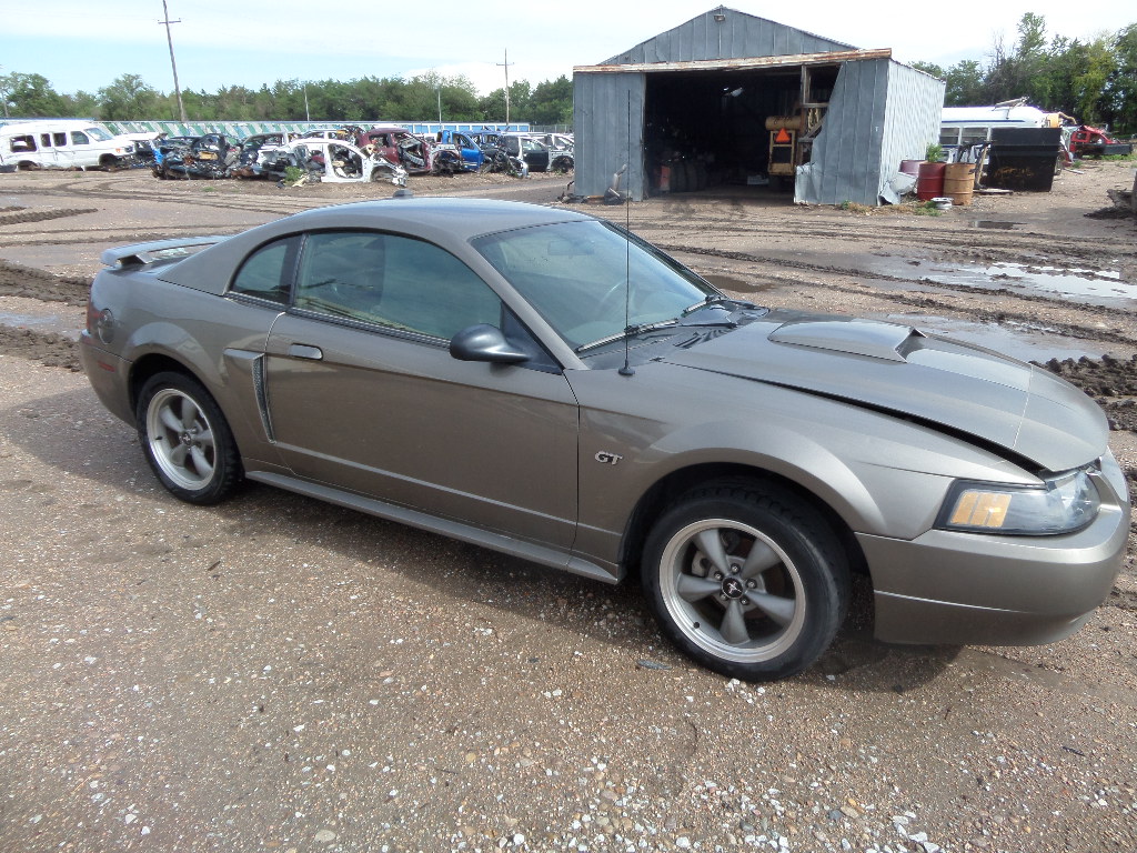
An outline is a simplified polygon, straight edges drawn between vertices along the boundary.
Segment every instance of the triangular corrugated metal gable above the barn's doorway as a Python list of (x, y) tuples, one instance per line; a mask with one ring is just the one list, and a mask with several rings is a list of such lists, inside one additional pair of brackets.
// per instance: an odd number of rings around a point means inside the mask
[[(715, 20), (715, 15), (721, 15), (723, 19)], [(822, 39), (803, 30), (721, 6), (648, 39), (601, 65), (824, 53), (852, 48), (852, 44)]]

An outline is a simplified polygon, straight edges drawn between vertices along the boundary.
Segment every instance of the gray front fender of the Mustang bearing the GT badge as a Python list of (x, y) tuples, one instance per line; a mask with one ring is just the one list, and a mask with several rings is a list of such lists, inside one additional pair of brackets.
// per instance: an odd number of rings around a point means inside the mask
[(645, 496), (697, 466), (775, 474), (852, 531), (897, 539), (933, 525), (956, 478), (1031, 481), (965, 439), (794, 389), (664, 364), (631, 379), (571, 379), (581, 401), (578, 543), (603, 560), (619, 554)]

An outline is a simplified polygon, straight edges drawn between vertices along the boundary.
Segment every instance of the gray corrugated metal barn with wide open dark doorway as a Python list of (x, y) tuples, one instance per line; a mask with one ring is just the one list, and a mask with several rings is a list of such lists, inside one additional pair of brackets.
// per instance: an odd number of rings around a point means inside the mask
[(944, 83), (719, 7), (573, 69), (575, 191), (639, 201), (720, 183), (792, 184), (810, 204), (895, 201), (901, 160), (939, 138)]

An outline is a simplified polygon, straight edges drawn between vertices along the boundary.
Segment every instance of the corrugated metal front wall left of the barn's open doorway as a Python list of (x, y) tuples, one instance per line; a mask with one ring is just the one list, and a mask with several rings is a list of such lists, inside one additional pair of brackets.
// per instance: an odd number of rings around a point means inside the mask
[[(573, 84), (576, 169), (573, 189), (600, 196), (628, 164), (621, 190), (644, 200), (644, 74), (578, 74)], [(629, 111), (631, 127), (629, 127)]]

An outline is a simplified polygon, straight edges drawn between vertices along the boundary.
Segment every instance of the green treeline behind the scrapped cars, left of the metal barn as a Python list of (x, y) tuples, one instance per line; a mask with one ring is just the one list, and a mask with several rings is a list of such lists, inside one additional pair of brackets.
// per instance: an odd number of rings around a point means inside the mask
[[(174, 92), (159, 92), (136, 74), (124, 74), (97, 92), (59, 93), (40, 74), (0, 75), (6, 116), (90, 116), (105, 122), (177, 121)], [(498, 89), (479, 96), (465, 76), (435, 74), (363, 77), (339, 81), (276, 81), (260, 89), (225, 86), (216, 92), (182, 91), (191, 122), (313, 121), (395, 122), (434, 118), (447, 122), (505, 122), (506, 93)], [(508, 118), (539, 125), (572, 124), (572, 81), (561, 76), (530, 85), (509, 85)]]

